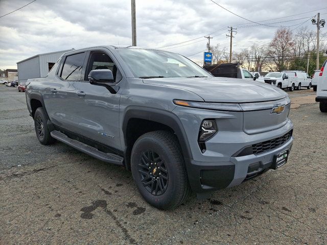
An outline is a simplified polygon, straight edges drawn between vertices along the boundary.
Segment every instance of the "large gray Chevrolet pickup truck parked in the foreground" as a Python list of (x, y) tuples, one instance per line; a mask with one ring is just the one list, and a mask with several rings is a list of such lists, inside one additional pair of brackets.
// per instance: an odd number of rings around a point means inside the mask
[(159, 209), (287, 162), (293, 124), (281, 89), (215, 78), (175, 53), (99, 46), (62, 55), (26, 100), (40, 143), (62, 141), (131, 170)]

